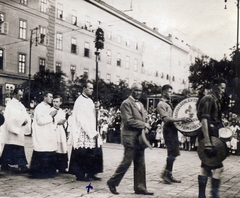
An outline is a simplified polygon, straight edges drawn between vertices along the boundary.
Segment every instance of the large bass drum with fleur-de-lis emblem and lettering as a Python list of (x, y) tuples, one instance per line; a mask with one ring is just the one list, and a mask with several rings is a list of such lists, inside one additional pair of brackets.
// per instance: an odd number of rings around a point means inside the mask
[(185, 136), (196, 136), (202, 127), (197, 118), (197, 101), (198, 97), (185, 98), (173, 110), (174, 118), (189, 117), (192, 120), (192, 122), (174, 122), (177, 130)]

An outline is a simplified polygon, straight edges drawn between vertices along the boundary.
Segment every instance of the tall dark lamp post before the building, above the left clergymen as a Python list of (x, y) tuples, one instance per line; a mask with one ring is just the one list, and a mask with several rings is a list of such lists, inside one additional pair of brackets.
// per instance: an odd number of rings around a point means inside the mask
[(36, 37), (35, 37), (35, 41), (36, 41), (36, 46), (38, 43), (38, 37), (37, 37), (37, 30), (38, 27), (31, 29), (30, 30), (30, 48), (29, 48), (29, 72), (28, 72), (28, 108), (30, 110), (30, 98), (31, 98), (31, 67), (32, 67), (32, 44), (33, 44), (33, 33), (34, 31), (36, 31)]

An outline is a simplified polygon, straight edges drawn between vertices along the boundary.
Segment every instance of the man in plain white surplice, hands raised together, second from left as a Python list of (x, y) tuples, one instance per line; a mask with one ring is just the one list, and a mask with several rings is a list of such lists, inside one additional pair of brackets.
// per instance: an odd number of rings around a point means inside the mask
[(35, 108), (33, 118), (33, 153), (30, 174), (36, 178), (52, 178), (56, 174), (57, 135), (54, 130), (56, 109), (51, 109), (53, 94), (45, 92)]

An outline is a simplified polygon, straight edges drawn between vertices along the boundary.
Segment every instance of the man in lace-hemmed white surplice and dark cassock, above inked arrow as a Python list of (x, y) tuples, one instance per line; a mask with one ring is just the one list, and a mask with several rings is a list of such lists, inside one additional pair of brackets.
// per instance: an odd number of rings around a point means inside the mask
[(82, 94), (75, 101), (72, 112), (69, 173), (74, 174), (77, 181), (100, 180), (95, 175), (103, 172), (102, 142), (96, 130), (94, 103), (89, 98), (92, 93), (92, 82), (83, 83)]

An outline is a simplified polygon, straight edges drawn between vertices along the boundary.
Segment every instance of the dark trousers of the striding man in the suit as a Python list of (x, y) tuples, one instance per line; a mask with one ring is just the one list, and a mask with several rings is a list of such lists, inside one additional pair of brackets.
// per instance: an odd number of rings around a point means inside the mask
[(118, 186), (133, 161), (134, 191), (146, 190), (146, 171), (144, 149), (124, 146), (123, 160), (109, 182)]

